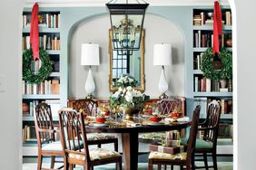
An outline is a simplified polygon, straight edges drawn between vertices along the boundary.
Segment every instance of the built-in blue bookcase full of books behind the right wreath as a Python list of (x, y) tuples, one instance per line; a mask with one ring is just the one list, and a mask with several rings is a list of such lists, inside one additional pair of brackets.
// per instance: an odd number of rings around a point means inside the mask
[[(232, 80), (225, 89), (219, 80), (207, 80), (201, 71), (202, 52), (212, 47), (213, 7), (192, 9), (192, 97), (194, 105), (201, 104), (201, 118), (206, 116), (206, 106), (216, 99), (221, 109), (221, 124), (218, 138), (218, 154), (232, 154)], [(222, 38), (220, 46), (232, 51), (231, 46), (231, 9), (222, 8)]]

